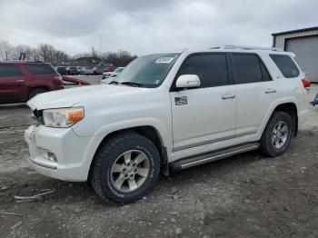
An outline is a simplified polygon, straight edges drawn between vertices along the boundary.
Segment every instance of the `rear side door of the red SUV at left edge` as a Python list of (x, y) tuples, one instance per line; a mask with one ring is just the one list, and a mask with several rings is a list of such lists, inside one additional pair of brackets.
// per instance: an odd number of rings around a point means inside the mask
[(17, 64), (0, 64), (0, 104), (25, 100), (25, 74)]

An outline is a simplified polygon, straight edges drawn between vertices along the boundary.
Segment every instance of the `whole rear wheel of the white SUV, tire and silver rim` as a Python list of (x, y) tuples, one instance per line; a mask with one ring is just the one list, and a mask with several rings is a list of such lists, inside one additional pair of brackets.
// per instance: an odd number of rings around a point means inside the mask
[(263, 131), (261, 153), (270, 157), (283, 154), (291, 143), (293, 128), (293, 119), (290, 114), (274, 112)]

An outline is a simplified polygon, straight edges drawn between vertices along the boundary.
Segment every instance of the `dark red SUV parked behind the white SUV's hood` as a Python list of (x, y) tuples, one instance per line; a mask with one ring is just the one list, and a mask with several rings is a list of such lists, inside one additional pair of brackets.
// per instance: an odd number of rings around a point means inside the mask
[(36, 94), (63, 88), (62, 76), (51, 64), (0, 61), (0, 104), (23, 103)]

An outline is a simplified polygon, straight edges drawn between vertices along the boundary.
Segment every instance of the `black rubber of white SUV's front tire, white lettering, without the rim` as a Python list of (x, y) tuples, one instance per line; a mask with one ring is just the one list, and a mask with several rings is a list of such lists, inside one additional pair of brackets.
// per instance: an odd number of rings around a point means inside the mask
[[(134, 191), (122, 192), (113, 184), (112, 167), (117, 158), (127, 151), (139, 150), (149, 161), (149, 174), (144, 183)], [(160, 155), (155, 145), (141, 134), (114, 135), (100, 146), (91, 166), (90, 180), (95, 193), (108, 203), (132, 203), (148, 193), (156, 183), (160, 172)]]

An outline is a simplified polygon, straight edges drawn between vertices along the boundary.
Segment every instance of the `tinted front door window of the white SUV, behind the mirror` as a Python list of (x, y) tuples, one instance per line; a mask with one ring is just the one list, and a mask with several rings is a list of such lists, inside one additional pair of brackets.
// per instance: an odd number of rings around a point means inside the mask
[(226, 56), (192, 55), (185, 59), (177, 76), (196, 74), (201, 81), (201, 87), (221, 86), (228, 84)]

